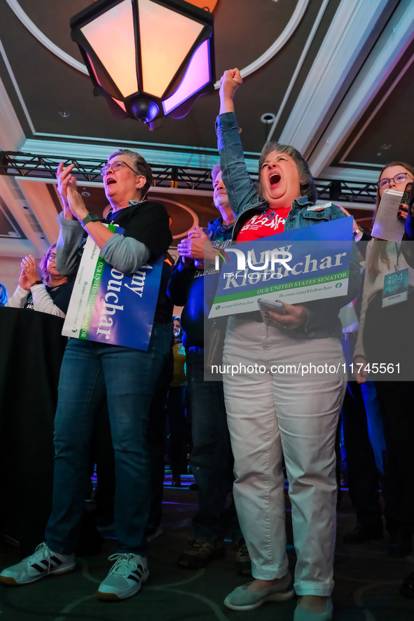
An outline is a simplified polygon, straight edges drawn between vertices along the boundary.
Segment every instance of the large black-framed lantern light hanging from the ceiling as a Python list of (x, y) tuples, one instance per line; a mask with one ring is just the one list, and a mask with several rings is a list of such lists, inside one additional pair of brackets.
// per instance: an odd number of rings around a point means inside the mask
[(184, 0), (97, 0), (71, 18), (71, 37), (117, 118), (151, 127), (214, 92), (213, 16)]

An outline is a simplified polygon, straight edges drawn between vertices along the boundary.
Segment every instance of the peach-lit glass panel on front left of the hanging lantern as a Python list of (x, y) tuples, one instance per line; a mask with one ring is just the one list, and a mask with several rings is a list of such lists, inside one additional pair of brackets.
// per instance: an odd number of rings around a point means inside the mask
[(137, 92), (134, 17), (131, 0), (123, 0), (81, 31), (123, 97)]

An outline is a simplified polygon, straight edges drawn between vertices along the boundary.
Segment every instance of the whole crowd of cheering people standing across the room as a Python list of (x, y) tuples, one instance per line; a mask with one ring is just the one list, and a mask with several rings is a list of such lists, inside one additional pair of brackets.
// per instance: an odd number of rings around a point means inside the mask
[[(405, 220), (406, 230), (401, 243), (372, 239), (365, 257), (362, 247), (358, 252), (352, 242), (346, 295), (301, 304), (284, 302), (283, 314), (245, 312), (212, 323), (208, 316), (218, 273), (215, 249), (284, 231), (295, 234), (305, 226), (347, 216), (336, 204), (316, 203), (308, 164), (293, 146), (265, 144), (258, 161), (258, 186), (251, 180), (234, 107), (241, 83), (237, 69), (221, 78), (216, 123), (220, 165), (212, 170), (219, 216), (209, 222), (207, 232), (196, 227), (181, 240), (180, 258), (172, 270), (164, 261), (149, 349), (78, 338), (67, 343), (55, 416), (53, 510), (45, 540), (34, 554), (1, 571), (0, 581), (6, 585), (25, 585), (74, 570), (94, 419), (105, 398), (116, 476), (117, 552), (109, 557), (114, 562), (99, 585), (100, 599), (133, 596), (149, 576), (146, 552), (149, 539), (160, 531), (162, 500), (160, 476), (153, 473), (163, 473), (163, 463), (161, 470), (159, 463), (153, 466), (154, 454), (160, 452), (153, 450), (151, 442), (158, 443), (158, 448), (163, 442), (167, 417), (173, 484), (180, 487), (186, 404), (191, 412), (189, 465), (198, 488), (198, 508), (193, 539), (178, 565), (198, 569), (223, 557), (229, 529), (236, 571), (253, 579), (228, 594), (224, 601), (228, 608), (252, 610), (267, 601), (291, 599), (296, 593), (294, 621), (332, 619), (341, 409), (345, 445), (350, 446), (350, 494), (357, 514), (357, 526), (347, 533), (345, 543), (382, 538), (381, 482), (389, 554), (412, 552), (414, 428), (407, 404), (414, 386), (409, 355), (413, 351), (409, 319), (414, 300), (410, 247), (414, 214), (409, 203), (400, 204), (398, 217)], [(43, 258), (41, 274), (32, 256), (22, 259), (18, 288), (8, 301), (1, 288), (6, 306), (64, 317), (78, 270), (78, 249), (88, 237), (104, 261), (123, 274), (134, 274), (167, 253), (172, 242), (167, 211), (146, 198), (151, 168), (138, 153), (120, 149), (102, 168), (111, 206), (103, 221), (88, 213), (76, 191), (73, 167), (57, 169), (63, 207), (57, 244)], [(380, 173), (378, 202), (387, 188), (401, 190), (408, 181), (414, 181), (412, 167), (404, 162), (387, 165)], [(125, 232), (117, 235), (107, 224)], [(363, 286), (361, 266), (365, 264)], [(399, 304), (383, 303), (389, 274), (405, 283), (406, 296)], [(360, 310), (354, 302), (358, 299)], [(172, 319), (172, 304), (183, 307), (181, 318)], [(355, 319), (342, 318), (341, 323), (343, 307), (356, 309)], [(347, 323), (353, 327), (348, 329)], [(339, 368), (345, 364), (345, 353), (352, 368), (349, 382), (339, 375), (310, 381), (280, 370), (206, 378), (207, 358), (219, 333), (226, 334), (218, 345), (226, 365), (246, 369), (257, 363), (274, 369), (300, 362)], [(346, 347), (349, 342), (351, 349)], [(387, 377), (373, 380), (370, 366), (387, 361), (395, 367), (401, 362), (401, 351), (408, 352), (401, 376), (396, 378), (388, 367)], [(157, 428), (154, 421), (160, 421)], [(357, 434), (364, 444), (352, 444)], [(374, 436), (382, 439), (379, 452)], [(285, 473), (297, 556), (294, 578), (286, 552)], [(227, 506), (229, 492), (233, 500)], [(404, 581), (401, 593), (414, 596), (414, 574)]]

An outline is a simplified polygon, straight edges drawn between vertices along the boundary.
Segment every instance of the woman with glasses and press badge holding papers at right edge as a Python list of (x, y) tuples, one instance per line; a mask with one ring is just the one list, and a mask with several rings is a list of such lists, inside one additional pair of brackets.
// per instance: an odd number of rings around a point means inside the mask
[[(391, 162), (380, 173), (377, 207), (387, 188), (405, 188), (414, 169)], [(400, 205), (407, 218), (407, 206)], [(406, 219), (406, 224), (409, 221)], [(392, 481), (394, 501), (387, 503), (393, 519), (388, 554), (408, 556), (413, 550), (413, 437), (410, 403), (414, 391), (414, 337), (407, 326), (414, 313), (414, 269), (401, 243), (375, 238), (368, 243), (361, 318), (354, 349), (354, 375), (358, 382), (375, 380), (384, 423), (387, 462), (385, 476)], [(389, 487), (391, 487), (389, 485)]]

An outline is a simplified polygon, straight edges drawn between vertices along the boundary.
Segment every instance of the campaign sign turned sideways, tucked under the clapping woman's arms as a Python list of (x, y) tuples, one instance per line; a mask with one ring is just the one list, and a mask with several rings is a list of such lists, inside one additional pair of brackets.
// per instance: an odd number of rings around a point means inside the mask
[[(109, 225), (122, 233), (123, 229)], [(99, 256), (88, 237), (62, 335), (147, 351), (160, 288), (163, 256), (123, 274)]]

